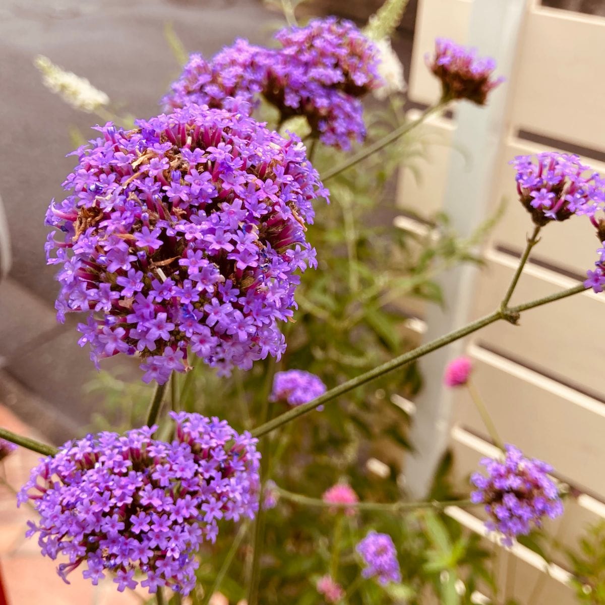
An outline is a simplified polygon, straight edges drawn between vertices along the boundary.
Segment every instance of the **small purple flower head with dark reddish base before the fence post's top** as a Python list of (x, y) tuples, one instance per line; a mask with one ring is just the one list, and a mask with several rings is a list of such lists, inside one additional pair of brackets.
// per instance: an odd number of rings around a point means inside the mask
[(430, 70), (441, 81), (443, 100), (468, 99), (485, 105), (488, 94), (504, 81), (492, 79), (495, 60), (480, 58), (475, 48), (465, 48), (452, 40), (437, 38), (435, 54), (426, 56)]

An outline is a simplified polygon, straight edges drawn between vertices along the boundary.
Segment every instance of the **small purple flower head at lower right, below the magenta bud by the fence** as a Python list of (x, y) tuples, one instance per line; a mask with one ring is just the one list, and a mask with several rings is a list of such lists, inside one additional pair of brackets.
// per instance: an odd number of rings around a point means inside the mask
[(487, 475), (471, 476), (477, 488), (471, 500), (485, 502), (486, 527), (503, 534), (503, 545), (512, 546), (515, 537), (529, 534), (532, 526), (540, 527), (543, 517), (563, 513), (557, 486), (547, 474), (552, 467), (546, 462), (525, 458), (517, 448), (506, 445), (503, 461), (484, 458), (481, 463)]

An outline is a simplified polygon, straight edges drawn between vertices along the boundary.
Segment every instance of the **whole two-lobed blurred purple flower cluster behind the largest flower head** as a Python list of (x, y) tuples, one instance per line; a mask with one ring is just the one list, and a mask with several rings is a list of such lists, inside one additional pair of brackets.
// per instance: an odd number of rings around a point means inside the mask
[(359, 97), (382, 84), (374, 44), (355, 24), (334, 17), (286, 28), (275, 38), (281, 48), (240, 39), (210, 62), (192, 54), (162, 102), (167, 108), (206, 103), (243, 109), (242, 102), (252, 107), (262, 93), (282, 119), (306, 116), (326, 145), (348, 149), (352, 140), (363, 140)]

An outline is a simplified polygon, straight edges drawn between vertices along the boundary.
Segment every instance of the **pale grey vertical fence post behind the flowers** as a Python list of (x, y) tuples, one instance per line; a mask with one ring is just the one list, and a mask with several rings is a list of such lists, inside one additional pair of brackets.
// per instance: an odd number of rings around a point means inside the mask
[[(468, 45), (477, 47), (480, 56), (494, 57), (497, 73), (507, 81), (491, 94), (486, 107), (462, 102), (456, 108), (457, 128), (452, 146), (468, 151), (470, 160), (459, 153), (450, 155), (443, 210), (463, 237), (476, 229), (493, 201), (494, 178), (499, 174), (502, 143), (508, 134), (508, 108), (514, 83), (512, 70), (529, 1), (474, 0), (471, 9)], [(439, 36), (439, 32), (435, 35)], [(446, 308), (430, 307), (425, 341), (468, 322), (476, 272), (474, 267), (463, 266), (440, 278)], [(462, 342), (456, 342), (420, 360), (425, 387), (416, 401), (410, 435), (416, 453), (408, 457), (405, 468), (407, 488), (413, 497), (426, 494), (447, 446), (452, 397), (443, 387), (443, 369), (448, 361), (462, 353), (463, 346)]]

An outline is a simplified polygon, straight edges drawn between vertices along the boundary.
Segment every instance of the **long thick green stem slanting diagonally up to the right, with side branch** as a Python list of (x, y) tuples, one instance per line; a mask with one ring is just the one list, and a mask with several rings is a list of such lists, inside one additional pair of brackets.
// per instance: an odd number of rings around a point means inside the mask
[(409, 364), (411, 361), (416, 361), (416, 359), (427, 355), (427, 353), (432, 353), (438, 348), (445, 347), (445, 345), (450, 344), (450, 342), (457, 341), (460, 338), (464, 338), (465, 336), (472, 334), (473, 332), (477, 332), (477, 330), (482, 329), (486, 325), (493, 324), (499, 319), (506, 319), (506, 321), (514, 324), (518, 321), (518, 316), (522, 311), (534, 309), (534, 307), (540, 307), (548, 302), (566, 298), (567, 296), (572, 296), (574, 294), (583, 292), (584, 290), (586, 290), (586, 287), (583, 284), (578, 284), (578, 286), (574, 286), (568, 290), (563, 290), (562, 292), (557, 292), (549, 296), (543, 296), (543, 298), (538, 298), (534, 301), (526, 302), (525, 304), (521, 304), (516, 307), (509, 307), (505, 311), (502, 311), (502, 309), (497, 309), (489, 315), (476, 319), (462, 328), (454, 330), (453, 332), (450, 332), (444, 336), (440, 336), (440, 338), (436, 338), (434, 341), (420, 345), (420, 347), (408, 351), (399, 357), (391, 359), (391, 361), (387, 361), (386, 363), (379, 365), (378, 367), (373, 368), (364, 374), (360, 374), (359, 376), (356, 376), (356, 378), (343, 382), (341, 385), (338, 385), (338, 387), (326, 391), (323, 395), (316, 397), (316, 399), (313, 399), (313, 401), (310, 401), (307, 404), (298, 405), (295, 408), (292, 408), (292, 410), (284, 412), (280, 416), (269, 420), (269, 422), (265, 422), (264, 424), (260, 425), (260, 427), (253, 429), (251, 431), (252, 436), (261, 437), (266, 435), (267, 433), (274, 431), (276, 428), (280, 428), (284, 424), (292, 422), (292, 420), (298, 418), (299, 416), (315, 410), (315, 408), (319, 407), (319, 405), (327, 404), (329, 401), (336, 399), (336, 397), (348, 393), (348, 391), (352, 391), (353, 389), (361, 387), (361, 385), (364, 385), (367, 382), (380, 378), (388, 372), (397, 370), (397, 368), (402, 367), (402, 365)]

